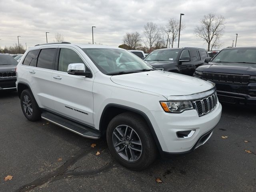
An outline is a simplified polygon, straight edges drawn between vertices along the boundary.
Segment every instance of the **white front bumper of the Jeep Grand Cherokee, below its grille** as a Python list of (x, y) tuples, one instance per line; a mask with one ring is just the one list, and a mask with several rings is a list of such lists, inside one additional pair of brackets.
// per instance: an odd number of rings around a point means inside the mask
[[(190, 152), (204, 144), (220, 121), (221, 111), (220, 103), (210, 113), (200, 117), (196, 110), (187, 110), (180, 114), (149, 111), (147, 116), (160, 143), (161, 155)], [(177, 132), (188, 130), (196, 132), (190, 138), (178, 138)]]

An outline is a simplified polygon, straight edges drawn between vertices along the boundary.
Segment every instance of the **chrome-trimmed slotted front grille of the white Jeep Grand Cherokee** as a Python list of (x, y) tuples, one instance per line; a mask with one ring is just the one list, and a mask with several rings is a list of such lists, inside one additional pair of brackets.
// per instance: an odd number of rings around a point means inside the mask
[(198, 116), (203, 116), (216, 108), (218, 104), (217, 94), (216, 92), (214, 92), (214, 94), (200, 100), (192, 101), (192, 103), (194, 108), (198, 112)]

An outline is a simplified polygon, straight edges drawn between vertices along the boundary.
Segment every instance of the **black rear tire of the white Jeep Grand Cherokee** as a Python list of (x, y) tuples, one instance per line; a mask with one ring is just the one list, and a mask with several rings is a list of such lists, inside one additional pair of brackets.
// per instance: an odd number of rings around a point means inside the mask
[[(29, 99), (29, 102), (26, 102), (26, 101), (28, 101), (28, 99)], [(20, 105), (21, 105), (21, 109), (22, 109), (24, 116), (28, 120), (37, 121), (41, 118), (41, 111), (38, 107), (38, 104), (36, 103), (36, 100), (35, 100), (33, 94), (31, 93), (31, 91), (29, 89), (25, 89), (22, 91), (22, 93), (20, 95)], [(30, 110), (28, 110), (28, 107), (25, 107), (24, 105), (25, 106), (29, 105)], [(31, 112), (31, 108), (32, 108), (32, 112)]]

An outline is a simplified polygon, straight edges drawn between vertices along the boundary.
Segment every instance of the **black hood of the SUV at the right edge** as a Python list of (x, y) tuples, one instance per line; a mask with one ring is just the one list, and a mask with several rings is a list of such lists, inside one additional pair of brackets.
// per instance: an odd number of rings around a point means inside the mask
[(196, 68), (201, 72), (244, 74), (256, 76), (256, 64), (247, 63), (215, 63), (209, 62)]

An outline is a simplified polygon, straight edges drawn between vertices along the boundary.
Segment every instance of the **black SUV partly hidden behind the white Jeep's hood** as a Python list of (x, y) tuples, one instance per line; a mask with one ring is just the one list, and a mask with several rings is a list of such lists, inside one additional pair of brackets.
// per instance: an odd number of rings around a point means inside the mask
[(208, 57), (207, 51), (201, 48), (166, 48), (152, 51), (144, 61), (159, 70), (192, 76)]

